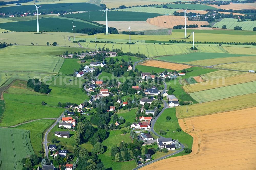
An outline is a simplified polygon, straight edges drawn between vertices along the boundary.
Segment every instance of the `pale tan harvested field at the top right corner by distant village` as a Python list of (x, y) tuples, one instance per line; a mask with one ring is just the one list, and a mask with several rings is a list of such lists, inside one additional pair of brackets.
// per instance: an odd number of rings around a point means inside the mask
[(244, 10), (244, 9), (253, 9), (255, 10), (256, 7), (253, 6), (252, 4), (254, 3), (246, 3), (246, 4), (228, 4), (228, 5), (208, 5), (208, 6), (212, 6), (214, 8), (218, 8), (218, 9), (233, 9), (233, 10)]

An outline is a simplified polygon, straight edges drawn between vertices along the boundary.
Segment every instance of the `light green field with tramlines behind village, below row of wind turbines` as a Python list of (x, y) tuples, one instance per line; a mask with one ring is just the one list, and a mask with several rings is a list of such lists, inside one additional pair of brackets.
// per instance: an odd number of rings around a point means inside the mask
[[(85, 48), (95, 49), (95, 43), (80, 43)], [(97, 43), (97, 48), (105, 47), (110, 50), (120, 49), (123, 52), (145, 54), (148, 57), (164, 56), (173, 54), (191, 53), (190, 45), (161, 45), (161, 44), (117, 44)]]

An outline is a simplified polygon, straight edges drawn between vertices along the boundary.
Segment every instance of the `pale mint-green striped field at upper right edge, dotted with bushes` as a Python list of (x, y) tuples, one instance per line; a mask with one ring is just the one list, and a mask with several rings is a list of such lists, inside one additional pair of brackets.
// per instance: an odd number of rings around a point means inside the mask
[(256, 21), (243, 21), (237, 22), (237, 19), (224, 18), (221, 21), (214, 24), (214, 27), (222, 28), (223, 25), (226, 25), (227, 29), (234, 29), (234, 27), (242, 27), (242, 30), (253, 30), (253, 27), (256, 27)]

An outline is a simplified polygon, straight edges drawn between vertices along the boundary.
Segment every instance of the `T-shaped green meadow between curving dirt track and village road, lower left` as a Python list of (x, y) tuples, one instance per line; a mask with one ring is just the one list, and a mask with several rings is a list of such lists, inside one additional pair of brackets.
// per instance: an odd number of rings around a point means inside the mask
[(33, 150), (36, 155), (42, 156), (39, 154), (39, 151), (43, 151), (42, 140), (43, 140), (43, 132), (52, 124), (55, 120), (37, 120), (34, 122), (26, 123), (23, 125), (19, 125), (15, 127), (15, 129), (24, 129), (30, 131), (30, 141), (33, 147)]

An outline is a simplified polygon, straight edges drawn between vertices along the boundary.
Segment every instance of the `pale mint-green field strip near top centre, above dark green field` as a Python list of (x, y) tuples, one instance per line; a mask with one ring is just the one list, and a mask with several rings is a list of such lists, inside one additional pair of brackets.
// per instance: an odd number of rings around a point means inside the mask
[[(111, 10), (112, 11), (112, 10)], [(132, 7), (125, 9), (116, 9), (113, 11), (129, 11), (129, 12), (143, 12), (143, 13), (157, 13), (157, 14), (173, 14), (177, 9), (164, 9), (164, 8), (150, 8), (150, 7)]]

